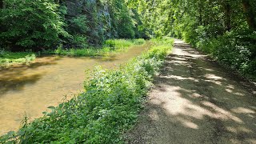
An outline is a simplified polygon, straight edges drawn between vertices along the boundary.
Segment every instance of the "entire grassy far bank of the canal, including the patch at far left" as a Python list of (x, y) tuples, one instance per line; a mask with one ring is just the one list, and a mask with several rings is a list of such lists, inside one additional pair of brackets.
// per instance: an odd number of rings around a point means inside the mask
[(0, 50), (0, 66), (30, 63), (34, 61), (37, 55), (41, 54), (58, 54), (70, 57), (104, 56), (110, 53), (127, 50), (130, 46), (138, 46), (145, 43), (146, 41), (144, 39), (110, 39), (104, 42), (104, 45), (99, 48), (64, 49), (62, 46), (58, 46), (56, 50), (45, 50), (38, 53), (33, 53), (31, 51), (14, 53)]

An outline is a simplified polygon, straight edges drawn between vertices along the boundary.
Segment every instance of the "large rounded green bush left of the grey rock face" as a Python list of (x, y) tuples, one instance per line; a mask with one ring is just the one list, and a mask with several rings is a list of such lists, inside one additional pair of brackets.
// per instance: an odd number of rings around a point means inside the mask
[(62, 18), (54, 0), (6, 0), (0, 13), (0, 45), (12, 51), (50, 48), (60, 42)]

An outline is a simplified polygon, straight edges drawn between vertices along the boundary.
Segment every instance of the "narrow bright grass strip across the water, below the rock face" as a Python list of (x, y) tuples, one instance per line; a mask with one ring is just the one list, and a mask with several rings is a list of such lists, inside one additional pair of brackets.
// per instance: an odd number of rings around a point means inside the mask
[(71, 57), (82, 56), (103, 56), (106, 54), (119, 52), (128, 49), (130, 46), (142, 45), (146, 41), (144, 39), (110, 39), (104, 42), (100, 48), (83, 48), (83, 49), (64, 49), (62, 46), (58, 46), (56, 50), (46, 50), (43, 54), (58, 54)]

